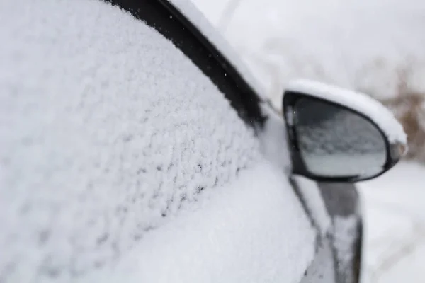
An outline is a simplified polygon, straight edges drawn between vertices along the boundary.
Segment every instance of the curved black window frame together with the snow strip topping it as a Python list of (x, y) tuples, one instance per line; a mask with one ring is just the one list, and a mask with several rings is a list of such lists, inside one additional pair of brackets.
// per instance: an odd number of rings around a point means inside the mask
[(246, 124), (261, 129), (263, 95), (237, 53), (190, 1), (106, 0), (147, 23), (183, 52), (217, 86)]

